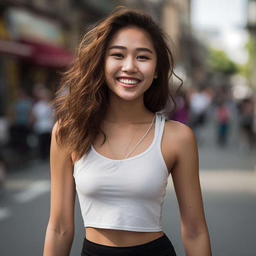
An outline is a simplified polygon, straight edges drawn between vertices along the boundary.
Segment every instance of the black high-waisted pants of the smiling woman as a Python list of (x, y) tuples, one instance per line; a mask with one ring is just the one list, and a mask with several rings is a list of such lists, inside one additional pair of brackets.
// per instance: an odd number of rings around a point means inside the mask
[(152, 242), (129, 247), (99, 245), (85, 238), (81, 256), (176, 256), (176, 253), (164, 234)]

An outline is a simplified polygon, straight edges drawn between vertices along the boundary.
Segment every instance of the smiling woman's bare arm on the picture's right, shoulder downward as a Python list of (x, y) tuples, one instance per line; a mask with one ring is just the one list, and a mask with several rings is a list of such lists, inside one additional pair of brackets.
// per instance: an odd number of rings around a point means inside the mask
[(176, 123), (175, 164), (171, 170), (180, 208), (186, 256), (211, 256), (199, 180), (198, 148), (193, 131)]

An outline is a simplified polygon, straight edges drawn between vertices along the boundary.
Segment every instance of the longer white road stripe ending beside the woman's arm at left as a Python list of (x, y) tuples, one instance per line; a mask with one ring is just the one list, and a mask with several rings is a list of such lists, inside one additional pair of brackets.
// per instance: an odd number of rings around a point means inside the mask
[(49, 180), (40, 180), (29, 184), (23, 191), (16, 193), (13, 199), (17, 203), (27, 203), (44, 193), (49, 192), (51, 189), (51, 182)]

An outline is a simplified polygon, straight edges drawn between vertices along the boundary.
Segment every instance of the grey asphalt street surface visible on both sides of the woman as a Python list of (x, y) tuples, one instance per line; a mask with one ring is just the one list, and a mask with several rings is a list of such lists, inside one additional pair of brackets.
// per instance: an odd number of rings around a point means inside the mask
[[(208, 124), (199, 146), (200, 180), (214, 256), (256, 255), (256, 148), (238, 150), (238, 131), (229, 144), (218, 147), (214, 126)], [(43, 254), (49, 218), (48, 162), (34, 161), (10, 170), (7, 190), (0, 198), (0, 255)], [(75, 237), (71, 256), (79, 256), (84, 238), (83, 220), (76, 200)], [(177, 256), (184, 256), (180, 217), (171, 177), (165, 196), (162, 224)]]

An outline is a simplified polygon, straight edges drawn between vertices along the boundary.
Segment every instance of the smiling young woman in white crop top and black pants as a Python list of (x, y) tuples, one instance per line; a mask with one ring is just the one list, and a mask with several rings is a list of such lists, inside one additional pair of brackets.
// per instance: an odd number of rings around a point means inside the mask
[(170, 44), (151, 16), (126, 7), (83, 37), (54, 101), (44, 256), (70, 253), (76, 191), (81, 256), (176, 255), (161, 226), (170, 174), (186, 254), (211, 255), (195, 137), (156, 114), (173, 106)]

